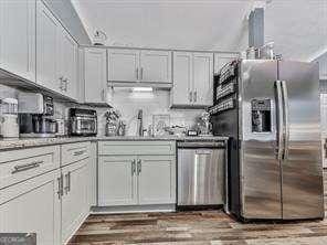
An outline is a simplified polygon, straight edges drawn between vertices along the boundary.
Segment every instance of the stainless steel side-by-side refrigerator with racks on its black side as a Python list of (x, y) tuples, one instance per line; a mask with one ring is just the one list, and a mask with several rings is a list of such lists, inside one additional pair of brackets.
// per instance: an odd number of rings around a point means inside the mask
[(234, 61), (210, 108), (230, 137), (229, 211), (241, 220), (324, 217), (318, 64)]

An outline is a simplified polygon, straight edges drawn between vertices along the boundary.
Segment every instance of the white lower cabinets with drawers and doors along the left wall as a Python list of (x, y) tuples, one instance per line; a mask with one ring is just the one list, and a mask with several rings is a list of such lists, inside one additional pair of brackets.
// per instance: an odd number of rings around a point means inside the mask
[(66, 244), (95, 205), (96, 145), (91, 146), (1, 151), (0, 233), (36, 233), (40, 245)]

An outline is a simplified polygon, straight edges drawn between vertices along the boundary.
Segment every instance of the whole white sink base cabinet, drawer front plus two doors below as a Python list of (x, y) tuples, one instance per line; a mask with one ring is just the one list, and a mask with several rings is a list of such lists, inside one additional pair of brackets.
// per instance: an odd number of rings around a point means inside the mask
[(175, 141), (102, 141), (98, 152), (99, 206), (176, 203)]

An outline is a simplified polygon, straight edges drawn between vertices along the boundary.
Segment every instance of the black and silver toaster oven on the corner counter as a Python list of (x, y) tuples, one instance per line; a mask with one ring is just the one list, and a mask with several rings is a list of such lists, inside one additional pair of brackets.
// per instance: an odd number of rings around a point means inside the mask
[(68, 131), (71, 136), (96, 136), (96, 110), (71, 108)]

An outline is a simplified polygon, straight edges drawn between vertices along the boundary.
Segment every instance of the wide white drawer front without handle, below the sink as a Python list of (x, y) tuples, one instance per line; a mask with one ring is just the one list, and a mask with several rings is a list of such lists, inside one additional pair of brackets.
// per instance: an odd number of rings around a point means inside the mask
[(175, 155), (175, 141), (102, 141), (99, 155)]

